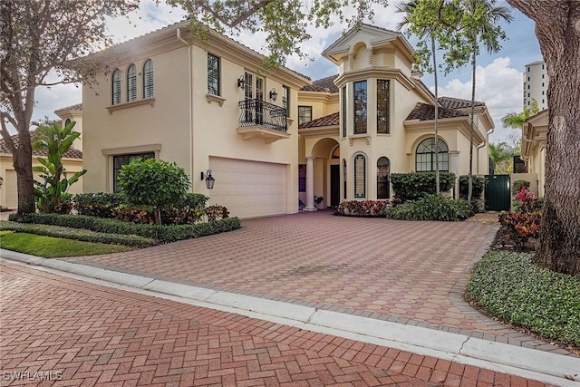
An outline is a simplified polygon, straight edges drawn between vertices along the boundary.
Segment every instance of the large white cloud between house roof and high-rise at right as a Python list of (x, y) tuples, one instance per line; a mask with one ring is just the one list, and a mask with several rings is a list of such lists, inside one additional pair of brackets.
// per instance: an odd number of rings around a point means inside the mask
[[(508, 112), (522, 111), (522, 73), (510, 67), (508, 57), (496, 58), (487, 66), (478, 66), (476, 71), (476, 101), (485, 102), (496, 129), (490, 140), (507, 140), (513, 129), (503, 128), (501, 118)], [(432, 89), (432, 88), (431, 88)], [(471, 81), (461, 82), (454, 78), (440, 87), (440, 96), (471, 99)]]

